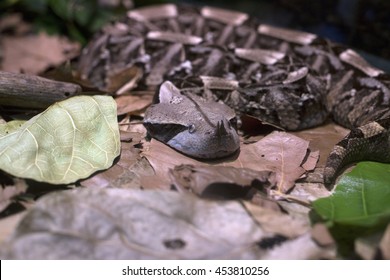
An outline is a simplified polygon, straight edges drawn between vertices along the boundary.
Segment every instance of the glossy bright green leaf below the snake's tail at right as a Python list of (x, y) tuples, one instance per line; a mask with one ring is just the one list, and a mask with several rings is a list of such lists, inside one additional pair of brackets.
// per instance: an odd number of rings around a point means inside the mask
[(323, 219), (339, 225), (376, 227), (390, 222), (390, 165), (361, 162), (335, 192), (313, 203)]

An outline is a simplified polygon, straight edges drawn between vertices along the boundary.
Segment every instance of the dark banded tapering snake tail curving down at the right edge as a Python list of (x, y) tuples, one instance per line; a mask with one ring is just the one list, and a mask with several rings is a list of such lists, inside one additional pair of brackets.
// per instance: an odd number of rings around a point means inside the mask
[(390, 162), (390, 118), (353, 129), (333, 148), (324, 170), (324, 183), (331, 186), (342, 169), (358, 161)]

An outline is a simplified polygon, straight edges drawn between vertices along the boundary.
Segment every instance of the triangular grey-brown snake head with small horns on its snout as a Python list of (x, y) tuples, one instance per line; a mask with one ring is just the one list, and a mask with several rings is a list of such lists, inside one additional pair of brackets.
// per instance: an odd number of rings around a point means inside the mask
[(160, 103), (145, 112), (144, 126), (153, 138), (195, 158), (221, 158), (240, 147), (236, 115), (228, 106), (181, 94), (171, 82), (159, 91)]

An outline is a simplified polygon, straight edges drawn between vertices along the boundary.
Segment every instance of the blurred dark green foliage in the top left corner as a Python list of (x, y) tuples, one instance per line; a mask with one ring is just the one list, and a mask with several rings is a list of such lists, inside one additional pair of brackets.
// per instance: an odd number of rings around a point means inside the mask
[(0, 16), (21, 13), (36, 31), (62, 34), (85, 44), (102, 25), (131, 7), (131, 0), (2, 0)]

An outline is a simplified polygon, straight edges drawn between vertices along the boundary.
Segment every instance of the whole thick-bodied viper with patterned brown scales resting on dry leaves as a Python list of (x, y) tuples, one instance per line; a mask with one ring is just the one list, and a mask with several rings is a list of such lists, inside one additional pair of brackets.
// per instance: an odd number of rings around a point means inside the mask
[(157, 89), (149, 134), (190, 156), (236, 152), (237, 113), (291, 131), (329, 116), (351, 129), (328, 157), (326, 185), (351, 162), (390, 162), (390, 76), (315, 34), (220, 8), (143, 7), (106, 26), (79, 61), (106, 91), (107, 77), (132, 67), (143, 74), (130, 87)]

